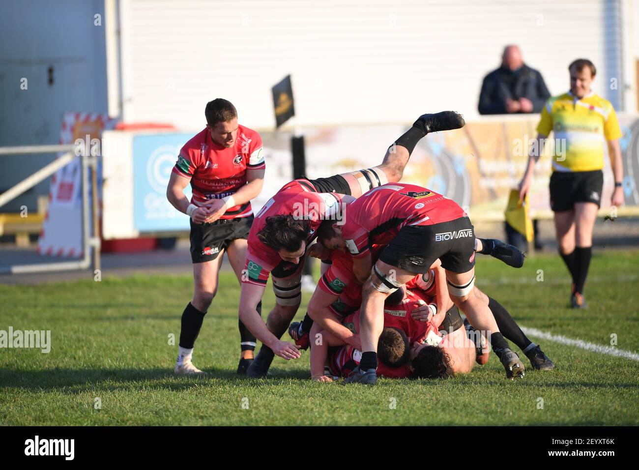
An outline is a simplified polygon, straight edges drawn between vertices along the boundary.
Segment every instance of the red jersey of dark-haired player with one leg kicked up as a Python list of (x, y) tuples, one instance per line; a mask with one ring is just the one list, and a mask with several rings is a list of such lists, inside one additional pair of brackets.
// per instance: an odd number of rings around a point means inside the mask
[(277, 251), (263, 244), (258, 238), (258, 233), (266, 225), (268, 217), (294, 215), (307, 219), (311, 226), (306, 240), (306, 246), (309, 246), (316, 238), (315, 232), (322, 221), (341, 213), (344, 194), (314, 192), (312, 186), (304, 181), (294, 180), (284, 185), (256, 214), (250, 227), (246, 276), (242, 276), (242, 282), (265, 285), (270, 272), (282, 262)]

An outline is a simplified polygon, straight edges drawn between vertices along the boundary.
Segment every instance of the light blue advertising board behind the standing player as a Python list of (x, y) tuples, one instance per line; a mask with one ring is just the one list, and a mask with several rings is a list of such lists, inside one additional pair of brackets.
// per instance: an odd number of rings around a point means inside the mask
[[(192, 134), (149, 134), (133, 138), (134, 227), (137, 231), (189, 230), (189, 217), (166, 198), (180, 148)], [(191, 198), (191, 187), (184, 190)]]

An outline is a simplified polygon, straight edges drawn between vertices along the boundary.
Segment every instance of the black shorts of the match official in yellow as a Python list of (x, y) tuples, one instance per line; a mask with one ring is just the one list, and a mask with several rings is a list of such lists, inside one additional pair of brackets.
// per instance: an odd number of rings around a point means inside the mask
[(550, 208), (553, 212), (573, 210), (574, 203), (592, 202), (601, 207), (603, 171), (553, 171), (550, 176)]

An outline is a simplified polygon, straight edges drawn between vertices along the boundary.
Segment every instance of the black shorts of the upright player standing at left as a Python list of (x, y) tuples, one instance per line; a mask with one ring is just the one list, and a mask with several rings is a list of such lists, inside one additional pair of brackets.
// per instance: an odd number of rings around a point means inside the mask
[(191, 260), (206, 263), (217, 258), (233, 240), (249, 238), (253, 215), (237, 219), (218, 219), (210, 224), (191, 224)]

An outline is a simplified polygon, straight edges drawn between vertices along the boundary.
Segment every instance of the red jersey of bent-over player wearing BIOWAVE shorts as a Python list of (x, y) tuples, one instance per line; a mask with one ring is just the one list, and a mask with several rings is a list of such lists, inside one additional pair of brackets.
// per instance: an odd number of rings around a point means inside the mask
[(433, 225), (465, 215), (442, 194), (403, 183), (381, 185), (351, 202), (344, 211), (342, 233), (355, 258), (363, 258), (372, 244), (387, 245), (406, 225)]

